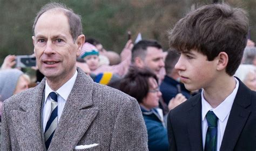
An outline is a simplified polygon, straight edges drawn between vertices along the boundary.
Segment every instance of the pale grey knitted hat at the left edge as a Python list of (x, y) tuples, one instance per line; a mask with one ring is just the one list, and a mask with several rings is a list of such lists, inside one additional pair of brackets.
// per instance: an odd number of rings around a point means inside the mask
[(18, 69), (0, 70), (0, 100), (4, 101), (14, 95), (19, 76), (22, 74)]

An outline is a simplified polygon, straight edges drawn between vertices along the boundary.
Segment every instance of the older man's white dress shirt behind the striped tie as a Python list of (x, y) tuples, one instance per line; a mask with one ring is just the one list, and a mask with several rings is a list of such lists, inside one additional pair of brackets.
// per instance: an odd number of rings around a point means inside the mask
[[(76, 70), (76, 73), (70, 78), (69, 81), (67, 81), (65, 84), (62, 85), (62, 87), (60, 87), (57, 91), (55, 91), (58, 94), (58, 121), (60, 119), (60, 116), (62, 115), (62, 111), (66, 104), (66, 99), (68, 99), (68, 96), (73, 88), (73, 85), (75, 84), (76, 78), (77, 78), (77, 70)], [(45, 81), (45, 95), (44, 95), (44, 109), (43, 109), (44, 131), (45, 131), (47, 121), (50, 118), (51, 99), (49, 94), (52, 91), (53, 90), (49, 87), (47, 81)]]

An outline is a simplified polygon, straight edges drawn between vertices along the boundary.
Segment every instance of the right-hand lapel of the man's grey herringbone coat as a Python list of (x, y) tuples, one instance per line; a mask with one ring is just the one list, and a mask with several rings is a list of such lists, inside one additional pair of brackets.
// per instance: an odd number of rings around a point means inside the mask
[[(99, 110), (98, 107), (93, 107), (92, 90), (93, 81), (78, 69), (76, 82), (66, 100), (49, 150), (75, 148)], [(60, 141), (65, 143), (59, 143)]]

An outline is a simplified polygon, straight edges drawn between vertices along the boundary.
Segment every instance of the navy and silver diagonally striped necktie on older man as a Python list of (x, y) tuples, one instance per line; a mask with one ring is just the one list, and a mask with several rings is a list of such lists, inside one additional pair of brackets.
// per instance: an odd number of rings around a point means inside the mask
[(46, 123), (45, 131), (44, 131), (46, 149), (48, 149), (50, 146), (52, 136), (58, 124), (57, 94), (56, 92), (50, 92), (49, 96), (51, 98), (51, 114), (50, 114), (49, 120)]

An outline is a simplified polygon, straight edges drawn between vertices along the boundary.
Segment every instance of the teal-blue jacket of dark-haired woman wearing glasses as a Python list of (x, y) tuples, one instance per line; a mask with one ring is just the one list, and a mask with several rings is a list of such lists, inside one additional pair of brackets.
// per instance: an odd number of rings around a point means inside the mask
[(147, 111), (142, 106), (140, 109), (147, 127), (149, 150), (168, 150), (167, 129), (157, 110)]

